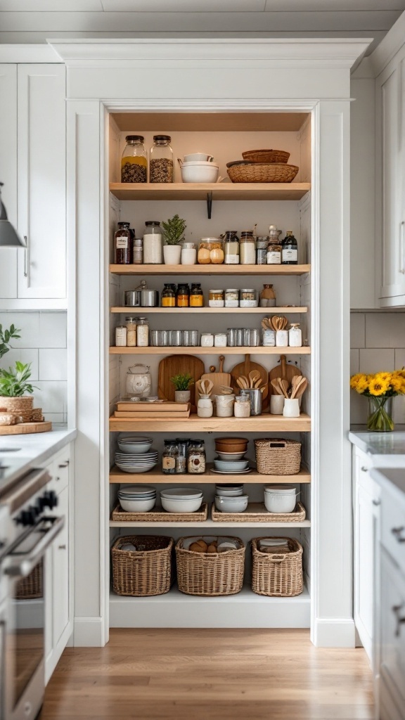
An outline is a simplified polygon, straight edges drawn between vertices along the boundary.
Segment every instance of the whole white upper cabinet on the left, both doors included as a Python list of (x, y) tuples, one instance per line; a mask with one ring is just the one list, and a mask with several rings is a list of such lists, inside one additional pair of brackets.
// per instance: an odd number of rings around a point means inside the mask
[(0, 84), (0, 181), (27, 242), (0, 251), (0, 300), (11, 309), (65, 307), (66, 68), (2, 65)]

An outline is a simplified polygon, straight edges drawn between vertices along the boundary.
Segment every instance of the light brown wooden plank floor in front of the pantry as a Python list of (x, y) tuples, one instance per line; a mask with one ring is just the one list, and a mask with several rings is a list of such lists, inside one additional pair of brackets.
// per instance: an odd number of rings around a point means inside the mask
[(40, 720), (371, 720), (362, 649), (316, 649), (308, 630), (113, 630), (68, 648)]

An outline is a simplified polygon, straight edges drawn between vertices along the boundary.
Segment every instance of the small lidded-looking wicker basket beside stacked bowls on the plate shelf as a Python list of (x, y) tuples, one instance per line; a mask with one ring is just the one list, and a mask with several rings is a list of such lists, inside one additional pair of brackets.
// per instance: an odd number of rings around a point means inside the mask
[(301, 443), (284, 438), (254, 441), (257, 472), (262, 475), (296, 475), (301, 468)]

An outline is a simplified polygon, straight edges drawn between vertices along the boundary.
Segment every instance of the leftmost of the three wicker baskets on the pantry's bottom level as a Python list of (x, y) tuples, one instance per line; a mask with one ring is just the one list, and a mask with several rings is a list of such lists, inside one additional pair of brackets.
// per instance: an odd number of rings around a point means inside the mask
[[(133, 543), (139, 550), (121, 550)], [(117, 595), (164, 595), (172, 585), (174, 540), (165, 536), (130, 535), (112, 546), (112, 589)]]

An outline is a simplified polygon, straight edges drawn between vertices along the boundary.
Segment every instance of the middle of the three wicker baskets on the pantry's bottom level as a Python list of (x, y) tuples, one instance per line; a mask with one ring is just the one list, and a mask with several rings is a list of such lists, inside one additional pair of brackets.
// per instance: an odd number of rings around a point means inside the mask
[(190, 537), (179, 539), (176, 545), (177, 583), (182, 593), (214, 598), (217, 595), (236, 595), (241, 591), (245, 547), (239, 538), (229, 539), (236, 541), (239, 549), (212, 554), (186, 550), (184, 541), (190, 540)]

